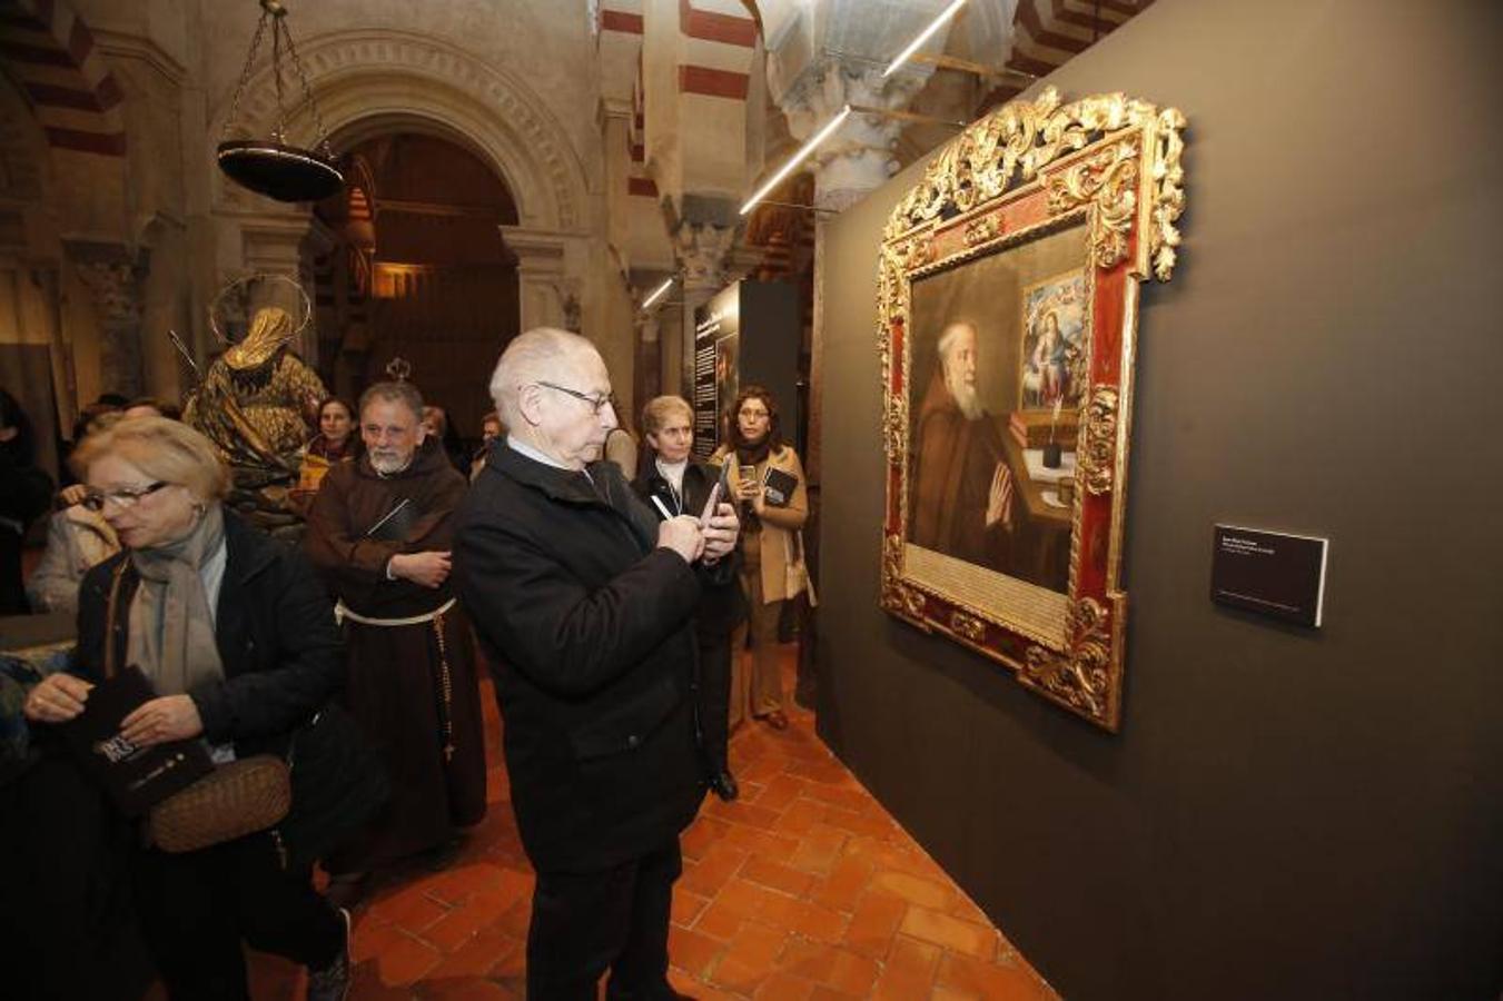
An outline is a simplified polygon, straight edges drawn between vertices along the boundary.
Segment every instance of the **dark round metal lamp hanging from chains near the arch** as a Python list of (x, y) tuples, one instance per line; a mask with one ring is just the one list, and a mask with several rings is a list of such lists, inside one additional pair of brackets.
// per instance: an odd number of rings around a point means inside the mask
[[(319, 114), (319, 102), (313, 99), (313, 89), (308, 86), (308, 74), (298, 57), (298, 48), (292, 42), (292, 32), (287, 30), (287, 8), (281, 0), (260, 0), (262, 18), (256, 26), (256, 38), (251, 41), (251, 51), (245, 57), (245, 69), (240, 71), (240, 83), (234, 87), (234, 98), (230, 101), (230, 116), (224, 122), (224, 134), (218, 149), (219, 170), (234, 183), (249, 188), (257, 194), (277, 201), (319, 201), (344, 186), (344, 174), (335, 164), (334, 150), (329, 146), (329, 134), (323, 128), (323, 117)], [(256, 63), (256, 53), (262, 47), (266, 29), (272, 32), (272, 80), (277, 86), (277, 126), (269, 138), (230, 138), (234, 132), (236, 117), (240, 110), (240, 99), (245, 96), (245, 86), (251, 78), (251, 66)], [(287, 141), (287, 102), (283, 72), (283, 50), (292, 72), (302, 84), (304, 99), (313, 116), (314, 144), (313, 149), (293, 146)]]

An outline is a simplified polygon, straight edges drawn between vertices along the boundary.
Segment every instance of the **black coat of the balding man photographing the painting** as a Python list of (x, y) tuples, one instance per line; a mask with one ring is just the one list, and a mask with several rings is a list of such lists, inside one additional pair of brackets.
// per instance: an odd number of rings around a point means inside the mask
[(458, 514), (460, 601), (496, 664), (522, 843), (544, 872), (637, 858), (694, 818), (702, 582), (609, 461), (589, 476), (504, 442)]

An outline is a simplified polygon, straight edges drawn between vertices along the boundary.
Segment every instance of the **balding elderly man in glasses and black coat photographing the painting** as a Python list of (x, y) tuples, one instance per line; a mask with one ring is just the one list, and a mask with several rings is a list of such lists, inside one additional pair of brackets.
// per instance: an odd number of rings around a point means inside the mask
[(454, 567), (496, 670), (522, 843), (538, 872), (528, 996), (676, 998), (678, 836), (705, 795), (693, 615), (733, 588), (733, 508), (658, 522), (601, 461), (610, 376), (585, 338), (516, 338), (490, 383), (508, 430), (460, 513)]

